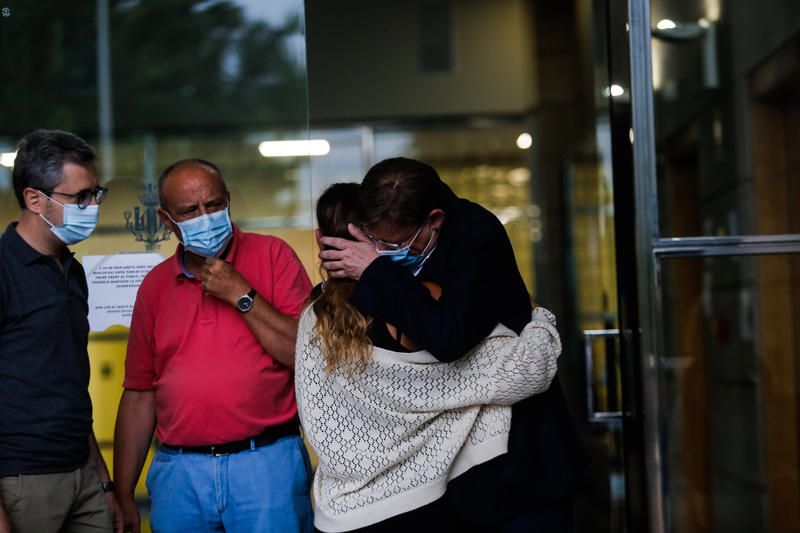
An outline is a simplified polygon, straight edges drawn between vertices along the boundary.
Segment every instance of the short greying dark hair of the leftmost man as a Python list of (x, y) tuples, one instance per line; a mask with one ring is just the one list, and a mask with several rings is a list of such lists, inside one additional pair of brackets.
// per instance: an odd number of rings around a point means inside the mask
[(97, 155), (86, 141), (60, 130), (36, 130), (17, 144), (14, 160), (14, 194), (25, 209), (23, 191), (28, 187), (52, 191), (64, 179), (64, 164), (74, 163), (94, 170)]

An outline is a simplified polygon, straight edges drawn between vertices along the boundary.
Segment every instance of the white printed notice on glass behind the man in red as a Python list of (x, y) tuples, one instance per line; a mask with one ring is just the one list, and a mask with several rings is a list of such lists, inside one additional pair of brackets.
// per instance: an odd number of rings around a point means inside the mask
[(136, 290), (150, 269), (163, 260), (156, 253), (83, 256), (89, 284), (89, 328), (130, 327)]

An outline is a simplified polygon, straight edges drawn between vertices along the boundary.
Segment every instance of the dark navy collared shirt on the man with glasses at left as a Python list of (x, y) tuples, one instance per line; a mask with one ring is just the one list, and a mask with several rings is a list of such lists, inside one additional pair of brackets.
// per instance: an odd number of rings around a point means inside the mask
[(0, 237), (0, 477), (68, 472), (89, 456), (88, 288), (65, 249)]

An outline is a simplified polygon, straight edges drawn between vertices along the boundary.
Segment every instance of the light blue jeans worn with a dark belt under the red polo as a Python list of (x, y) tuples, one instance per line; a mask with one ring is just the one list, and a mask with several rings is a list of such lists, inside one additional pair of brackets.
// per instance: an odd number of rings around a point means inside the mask
[(307, 533), (311, 464), (299, 436), (231, 455), (159, 448), (147, 473), (154, 533)]

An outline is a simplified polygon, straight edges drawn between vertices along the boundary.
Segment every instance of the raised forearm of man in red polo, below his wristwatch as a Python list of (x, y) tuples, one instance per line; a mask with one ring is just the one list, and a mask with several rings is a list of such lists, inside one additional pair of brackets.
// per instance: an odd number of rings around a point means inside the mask
[(297, 320), (275, 309), (261, 296), (244, 319), (261, 346), (282, 365), (294, 368)]

